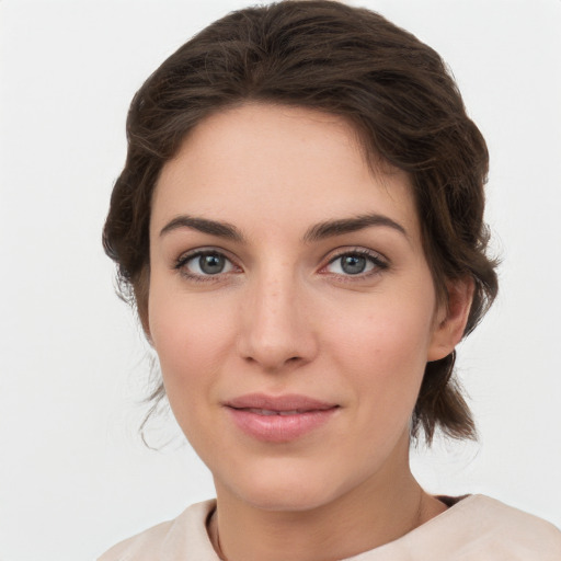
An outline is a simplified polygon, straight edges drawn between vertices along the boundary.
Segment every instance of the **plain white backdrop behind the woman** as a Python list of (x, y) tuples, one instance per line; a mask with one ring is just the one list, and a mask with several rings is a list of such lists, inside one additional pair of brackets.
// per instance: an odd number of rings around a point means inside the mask
[[(0, 560), (77, 561), (213, 496), (149, 374), (100, 238), (128, 103), (243, 0), (0, 0)], [(436, 493), (561, 526), (561, 1), (364, 0), (450, 65), (489, 142), (501, 295), (460, 346), (478, 445), (414, 454)]]

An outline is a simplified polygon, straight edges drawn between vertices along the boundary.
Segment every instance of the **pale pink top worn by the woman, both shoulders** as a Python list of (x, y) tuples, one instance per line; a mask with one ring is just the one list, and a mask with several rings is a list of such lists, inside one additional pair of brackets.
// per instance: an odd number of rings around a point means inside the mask
[[(219, 561), (205, 523), (215, 501), (190, 506), (99, 561)], [(561, 561), (561, 531), (494, 499), (470, 495), (403, 537), (346, 561)]]

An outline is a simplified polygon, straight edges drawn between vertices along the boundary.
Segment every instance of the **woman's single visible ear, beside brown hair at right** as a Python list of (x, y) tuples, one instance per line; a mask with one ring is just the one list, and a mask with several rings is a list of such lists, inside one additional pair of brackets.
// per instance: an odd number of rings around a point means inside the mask
[(468, 322), (473, 289), (471, 276), (446, 282), (448, 300), (438, 307), (427, 362), (444, 358), (460, 342)]

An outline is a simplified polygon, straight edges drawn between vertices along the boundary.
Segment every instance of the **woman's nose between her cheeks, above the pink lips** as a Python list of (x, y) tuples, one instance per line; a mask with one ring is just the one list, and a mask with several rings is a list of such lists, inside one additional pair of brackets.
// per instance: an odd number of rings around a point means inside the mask
[(264, 370), (279, 371), (311, 362), (318, 352), (310, 302), (294, 275), (270, 274), (250, 283), (243, 302), (238, 351)]

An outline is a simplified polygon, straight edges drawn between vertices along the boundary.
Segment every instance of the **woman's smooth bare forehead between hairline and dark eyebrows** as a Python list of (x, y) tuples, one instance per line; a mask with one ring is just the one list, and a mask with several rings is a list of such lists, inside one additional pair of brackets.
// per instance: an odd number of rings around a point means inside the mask
[(182, 213), (242, 228), (381, 213), (419, 231), (409, 175), (373, 169), (342, 117), (248, 104), (211, 115), (184, 140), (158, 181), (152, 226)]

